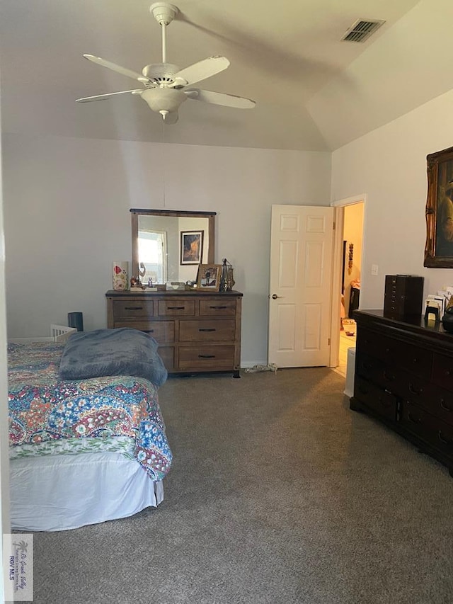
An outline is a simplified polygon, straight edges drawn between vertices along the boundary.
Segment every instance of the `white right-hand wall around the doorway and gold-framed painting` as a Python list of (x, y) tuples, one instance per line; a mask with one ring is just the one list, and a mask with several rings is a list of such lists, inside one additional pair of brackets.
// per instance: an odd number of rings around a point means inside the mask
[(453, 270), (423, 268), (426, 156), (452, 146), (452, 107), (453, 90), (333, 152), (333, 200), (367, 194), (362, 309), (383, 307), (385, 275), (422, 275), (425, 295), (453, 285)]

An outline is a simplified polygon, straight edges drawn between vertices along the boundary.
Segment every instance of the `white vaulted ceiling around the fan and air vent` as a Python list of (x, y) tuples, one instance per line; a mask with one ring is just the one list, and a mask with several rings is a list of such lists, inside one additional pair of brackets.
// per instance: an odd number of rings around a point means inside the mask
[[(453, 87), (450, 0), (175, 0), (168, 62), (226, 56), (230, 67), (200, 87), (253, 98), (256, 108), (188, 101), (164, 130), (139, 96), (75, 103), (135, 86), (84, 53), (134, 71), (161, 62), (150, 4), (0, 0), (3, 130), (322, 151)], [(340, 42), (357, 18), (386, 23), (365, 43)]]

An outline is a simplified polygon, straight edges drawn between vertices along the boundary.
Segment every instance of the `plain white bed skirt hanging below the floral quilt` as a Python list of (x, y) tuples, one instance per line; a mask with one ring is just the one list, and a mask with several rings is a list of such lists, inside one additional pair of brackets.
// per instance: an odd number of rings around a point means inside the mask
[(164, 486), (118, 452), (42, 455), (11, 460), (10, 496), (11, 528), (68, 530), (156, 507)]

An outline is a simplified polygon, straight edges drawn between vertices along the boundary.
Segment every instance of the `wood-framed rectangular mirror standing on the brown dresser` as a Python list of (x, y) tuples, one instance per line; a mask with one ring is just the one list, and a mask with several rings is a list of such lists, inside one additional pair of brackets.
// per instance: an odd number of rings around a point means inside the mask
[(214, 263), (215, 212), (130, 212), (132, 275), (140, 274), (143, 283), (195, 281), (198, 264)]

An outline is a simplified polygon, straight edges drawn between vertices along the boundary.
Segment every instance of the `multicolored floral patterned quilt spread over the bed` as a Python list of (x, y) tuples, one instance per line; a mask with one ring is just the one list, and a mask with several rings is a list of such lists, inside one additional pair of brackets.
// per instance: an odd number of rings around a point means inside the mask
[(8, 344), (11, 457), (121, 450), (152, 480), (163, 479), (172, 455), (156, 386), (127, 375), (62, 381), (63, 347)]

